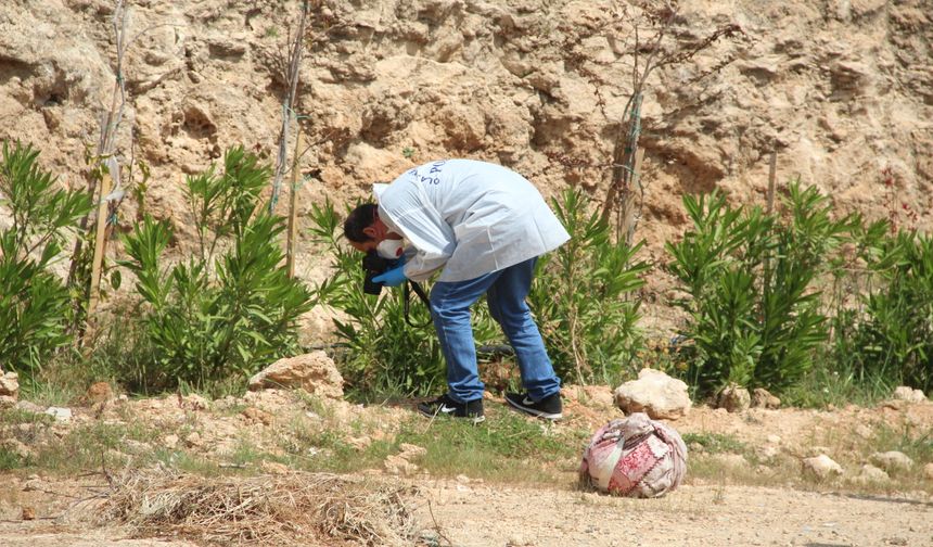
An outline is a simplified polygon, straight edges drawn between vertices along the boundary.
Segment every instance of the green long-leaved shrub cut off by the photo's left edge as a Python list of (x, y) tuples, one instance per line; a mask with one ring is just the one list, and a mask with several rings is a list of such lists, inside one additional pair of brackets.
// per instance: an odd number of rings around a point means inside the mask
[(0, 230), (0, 362), (29, 377), (71, 341), (68, 291), (48, 268), (92, 204), (79, 191), (56, 189), (30, 145), (3, 141), (2, 154), (0, 205), (12, 225)]

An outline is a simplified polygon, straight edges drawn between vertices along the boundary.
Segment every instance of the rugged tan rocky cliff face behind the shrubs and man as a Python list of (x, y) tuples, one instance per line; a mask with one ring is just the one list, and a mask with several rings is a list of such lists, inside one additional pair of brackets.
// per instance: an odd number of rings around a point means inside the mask
[[(299, 3), (128, 7), (136, 39), (119, 75), (119, 153), (151, 166), (148, 207), (183, 236), (184, 174), (238, 143), (274, 158), (282, 52)], [(33, 142), (64, 183), (84, 183), (85, 150), (111, 103), (112, 13), (104, 0), (0, 7), (0, 138)], [(303, 187), (304, 207), (365, 195), (375, 180), (444, 156), (502, 163), (547, 194), (581, 185), (601, 196), (609, 173), (599, 165), (611, 157), (634, 60), (634, 35), (613, 24), (632, 13), (601, 0), (324, 1), (301, 71), (298, 110), (315, 143), (303, 169), (322, 173)], [(800, 177), (874, 218), (906, 203), (920, 216), (895, 212), (900, 220), (929, 229), (933, 4), (685, 2), (673, 31), (695, 41), (728, 23), (747, 38), (719, 40), (649, 79), (638, 234), (650, 252), (685, 228), (685, 192), (720, 188), (761, 203), (775, 142), (779, 180)], [(881, 182), (885, 168), (893, 190)], [(123, 216), (136, 206), (128, 200)]]

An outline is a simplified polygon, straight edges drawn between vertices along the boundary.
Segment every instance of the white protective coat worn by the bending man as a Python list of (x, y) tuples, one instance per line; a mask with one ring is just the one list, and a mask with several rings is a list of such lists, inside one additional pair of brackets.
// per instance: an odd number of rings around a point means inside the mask
[(405, 275), (465, 281), (540, 256), (570, 239), (521, 175), (472, 160), (445, 160), (375, 185), (379, 216), (417, 249)]

